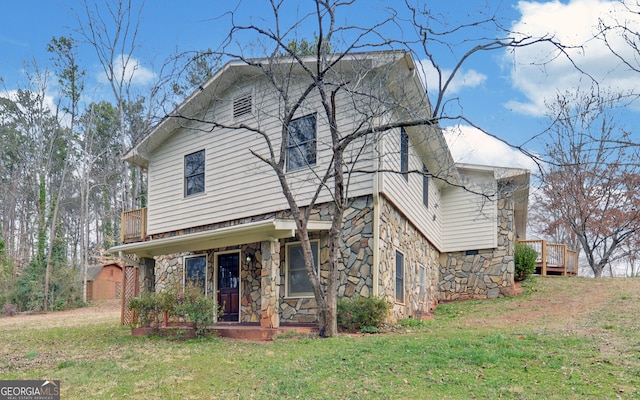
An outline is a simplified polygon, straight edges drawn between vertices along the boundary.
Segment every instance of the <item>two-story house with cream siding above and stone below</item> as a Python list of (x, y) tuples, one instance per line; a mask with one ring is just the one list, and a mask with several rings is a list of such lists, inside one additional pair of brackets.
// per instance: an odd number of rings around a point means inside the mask
[[(224, 306), (224, 320), (263, 327), (316, 320), (288, 203), (278, 177), (256, 156), (269, 156), (266, 139), (280, 148), (283, 92), (274, 81), (289, 97), (309, 87), (304, 68), (290, 59), (277, 63), (268, 74), (267, 67), (227, 63), (126, 155), (146, 170), (148, 207), (123, 215), (123, 243), (110, 249), (139, 267), (146, 290), (198, 282)], [(341, 88), (333, 99), (341, 132), (430, 112), (410, 54), (351, 54), (330, 72), (327, 81)], [(333, 155), (326, 114), (312, 92), (288, 126), (284, 154), (287, 182), (302, 206)], [(366, 135), (345, 160), (350, 201), (339, 296), (383, 296), (396, 321), (426, 315), (440, 300), (512, 289), (527, 171), (456, 165), (435, 124)], [(330, 204), (325, 188), (308, 224), (321, 280)]]

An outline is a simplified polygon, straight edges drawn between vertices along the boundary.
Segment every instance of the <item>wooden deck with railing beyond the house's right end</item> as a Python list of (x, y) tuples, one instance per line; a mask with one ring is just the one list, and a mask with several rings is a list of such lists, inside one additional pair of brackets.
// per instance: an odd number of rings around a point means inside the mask
[(540, 275), (578, 275), (578, 252), (566, 244), (546, 240), (518, 240), (538, 252), (536, 272)]

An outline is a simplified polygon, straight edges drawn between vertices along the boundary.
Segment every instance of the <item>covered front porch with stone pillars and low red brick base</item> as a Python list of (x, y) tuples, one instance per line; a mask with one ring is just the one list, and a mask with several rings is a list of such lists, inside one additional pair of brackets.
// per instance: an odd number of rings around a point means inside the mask
[[(141, 292), (162, 291), (186, 279), (201, 279), (207, 295), (217, 303), (229, 305), (225, 316), (233, 322), (219, 321), (211, 328), (217, 336), (246, 340), (273, 340), (277, 335), (313, 332), (301, 320), (282, 321), (280, 313), (280, 260), (282, 239), (295, 237), (295, 221), (269, 218), (221, 226), (190, 229), (188, 233), (161, 234), (152, 238), (145, 231), (145, 210), (123, 214), (125, 243), (110, 251), (131, 265), (126, 268), (129, 285), (123, 298), (122, 323), (130, 323), (124, 305)], [(131, 223), (127, 222), (133, 221)], [(330, 221), (309, 221), (310, 232), (327, 231)], [(127, 241), (130, 241), (127, 243)], [(229, 298), (221, 296), (228, 295)], [(226, 301), (225, 301), (226, 299)], [(296, 301), (296, 313), (306, 315), (307, 301)], [(299, 309), (300, 308), (300, 309)], [(285, 315), (284, 319), (292, 319)], [(302, 317), (301, 317), (302, 318)], [(302, 324), (302, 325), (301, 325)]]

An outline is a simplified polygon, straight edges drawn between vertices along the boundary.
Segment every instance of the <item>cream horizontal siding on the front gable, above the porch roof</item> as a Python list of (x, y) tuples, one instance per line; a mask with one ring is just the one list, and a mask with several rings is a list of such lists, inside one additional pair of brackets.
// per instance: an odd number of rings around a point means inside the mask
[[(300, 88), (298, 88), (300, 89)], [(279, 151), (282, 124), (278, 99), (259, 80), (247, 81), (219, 96), (210, 105), (208, 118), (225, 124), (238, 123), (232, 118), (233, 98), (252, 92), (254, 112), (245, 120), (269, 134), (275, 151)], [(295, 91), (296, 88), (293, 89)], [(317, 112), (317, 158), (312, 169), (303, 168), (287, 174), (291, 191), (300, 205), (306, 205), (324, 176), (331, 160), (331, 140), (319, 99), (311, 97), (296, 115)], [(341, 117), (338, 125), (347, 131), (354, 120), (346, 99), (338, 99)], [(364, 151), (362, 149), (364, 148)], [(371, 145), (360, 141), (351, 146), (347, 155), (360, 154), (358, 168), (371, 170)], [(205, 192), (184, 197), (184, 156), (205, 150)], [(150, 157), (148, 233), (157, 234), (189, 227), (207, 225), (253, 215), (288, 209), (280, 183), (270, 166), (250, 153), (252, 150), (268, 156), (264, 138), (246, 130), (215, 128), (191, 123), (179, 128)], [(358, 174), (350, 179), (349, 195), (372, 192), (371, 174)], [(329, 201), (324, 190), (317, 201)]]

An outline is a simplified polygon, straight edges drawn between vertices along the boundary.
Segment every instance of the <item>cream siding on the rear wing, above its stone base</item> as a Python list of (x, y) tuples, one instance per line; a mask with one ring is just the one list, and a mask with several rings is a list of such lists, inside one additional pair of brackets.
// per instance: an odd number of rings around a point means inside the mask
[[(443, 190), (443, 250), (489, 249), (498, 245), (496, 183), (493, 171), (461, 171), (464, 188)], [(465, 190), (469, 189), (469, 190)]]

